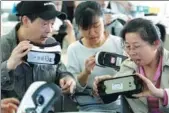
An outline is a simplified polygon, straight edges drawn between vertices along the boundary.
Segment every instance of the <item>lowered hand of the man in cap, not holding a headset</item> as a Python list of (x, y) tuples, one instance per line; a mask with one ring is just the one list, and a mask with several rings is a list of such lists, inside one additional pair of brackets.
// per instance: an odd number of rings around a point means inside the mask
[(60, 80), (60, 86), (63, 93), (73, 94), (76, 89), (76, 81), (72, 77), (66, 76)]

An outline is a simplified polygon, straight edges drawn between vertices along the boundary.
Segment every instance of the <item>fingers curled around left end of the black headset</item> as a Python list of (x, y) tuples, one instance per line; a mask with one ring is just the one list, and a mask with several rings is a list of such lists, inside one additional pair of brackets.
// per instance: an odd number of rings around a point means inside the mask
[(109, 78), (113, 78), (111, 75), (102, 75), (102, 76), (97, 76), (95, 77), (94, 83), (93, 83), (93, 91), (95, 95), (98, 95), (98, 83), (105, 80), (105, 79), (109, 79)]

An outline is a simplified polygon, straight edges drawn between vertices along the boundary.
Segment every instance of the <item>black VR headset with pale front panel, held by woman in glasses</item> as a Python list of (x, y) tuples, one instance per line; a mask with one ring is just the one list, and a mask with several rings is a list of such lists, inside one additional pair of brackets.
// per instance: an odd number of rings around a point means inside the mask
[(119, 95), (135, 98), (132, 95), (143, 91), (143, 81), (137, 75), (106, 79), (98, 84), (98, 93), (104, 103), (115, 101)]

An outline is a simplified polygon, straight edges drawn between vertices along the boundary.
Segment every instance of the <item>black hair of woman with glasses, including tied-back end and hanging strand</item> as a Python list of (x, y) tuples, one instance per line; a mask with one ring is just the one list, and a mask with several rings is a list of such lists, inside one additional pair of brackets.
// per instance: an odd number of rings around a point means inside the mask
[[(161, 24), (160, 24), (161, 25)], [(162, 26), (160, 26), (162, 27)], [(160, 55), (163, 55), (163, 43), (165, 40), (163, 36), (165, 36), (165, 28), (160, 28), (159, 25), (154, 25), (152, 21), (136, 18), (129, 21), (121, 31), (121, 37), (123, 41), (125, 41), (126, 33), (138, 33), (142, 40), (147, 42), (150, 45), (153, 45), (156, 40), (160, 40), (161, 44), (157, 50), (157, 57), (160, 58)], [(163, 31), (164, 30), (164, 31)], [(162, 41), (161, 41), (162, 40)], [(158, 59), (159, 60), (159, 59)]]

